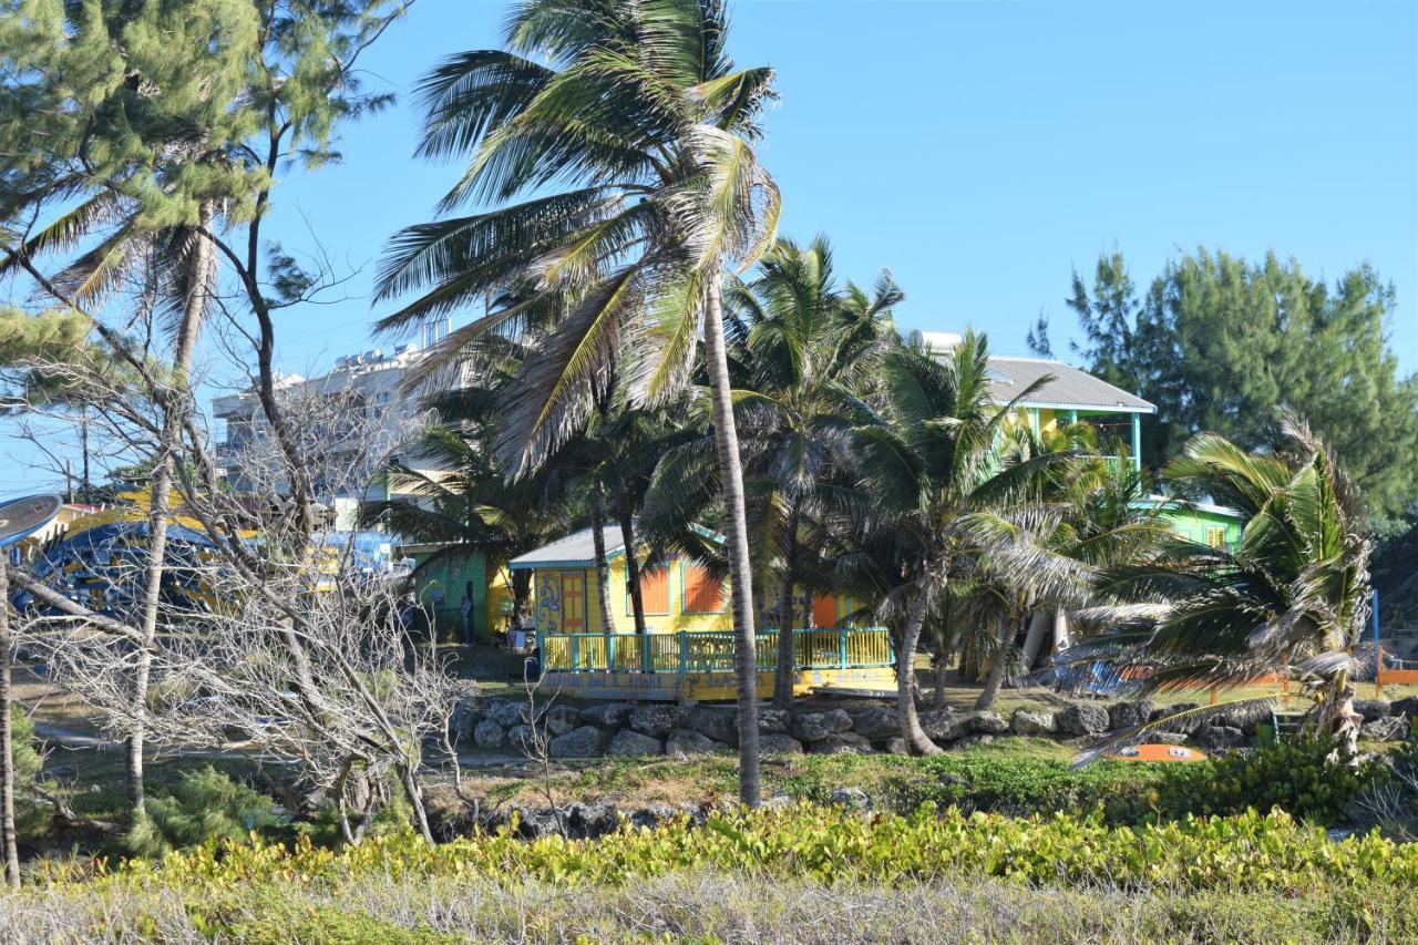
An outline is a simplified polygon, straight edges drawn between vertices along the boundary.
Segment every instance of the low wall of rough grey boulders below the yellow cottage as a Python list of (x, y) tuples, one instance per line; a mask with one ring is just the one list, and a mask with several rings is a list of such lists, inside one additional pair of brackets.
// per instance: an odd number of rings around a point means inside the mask
[[(1407, 717), (1418, 715), (1418, 697), (1388, 704), (1357, 700), (1364, 735), (1375, 741), (1401, 738)], [(964, 748), (1011, 735), (1059, 739), (1096, 739), (1173, 715), (1197, 704), (1159, 708), (1149, 701), (1079, 702), (1058, 709), (993, 711), (923, 709), (920, 725), (946, 748)], [(1195, 745), (1225, 751), (1249, 745), (1266, 709), (1235, 709), (1204, 721), (1181, 718), (1171, 731), (1157, 731), (1149, 741)], [(536, 719), (549, 736), (552, 758), (603, 758), (654, 755), (692, 756), (735, 752), (739, 744), (737, 714), (729, 707), (630, 705), (605, 702), (588, 708), (553, 705)], [(522, 751), (532, 728), (526, 702), (489, 700), (459, 711), (455, 725), (464, 744), (484, 749)], [(842, 752), (896, 752), (905, 745), (896, 728), (896, 711), (888, 705), (811, 708), (759, 712), (759, 746), (764, 755), (834, 755)]]

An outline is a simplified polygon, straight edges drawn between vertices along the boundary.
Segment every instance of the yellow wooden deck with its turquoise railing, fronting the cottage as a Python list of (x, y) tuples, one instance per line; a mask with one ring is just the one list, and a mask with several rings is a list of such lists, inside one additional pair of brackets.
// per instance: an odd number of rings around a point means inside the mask
[[(759, 694), (771, 695), (778, 631), (757, 634)], [(543, 685), (591, 700), (733, 700), (733, 634), (682, 631), (542, 634)], [(885, 627), (794, 630), (793, 690), (881, 690), (895, 685), (896, 654)]]

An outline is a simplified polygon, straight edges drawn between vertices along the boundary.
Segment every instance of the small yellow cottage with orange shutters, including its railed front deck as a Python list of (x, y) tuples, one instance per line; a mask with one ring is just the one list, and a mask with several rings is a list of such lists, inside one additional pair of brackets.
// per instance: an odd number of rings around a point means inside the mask
[[(702, 562), (679, 556), (641, 565), (647, 633), (637, 636), (621, 531), (605, 525), (601, 534), (610, 572), (611, 627), (601, 623), (590, 528), (508, 565), (512, 570), (533, 572), (545, 685), (583, 698), (735, 698), (727, 582)], [(848, 607), (847, 600), (824, 595), (814, 602), (814, 626), (793, 630), (794, 691), (895, 685), (891, 634), (883, 627), (847, 626)], [(773, 692), (777, 640), (776, 629), (759, 629), (760, 695)]]

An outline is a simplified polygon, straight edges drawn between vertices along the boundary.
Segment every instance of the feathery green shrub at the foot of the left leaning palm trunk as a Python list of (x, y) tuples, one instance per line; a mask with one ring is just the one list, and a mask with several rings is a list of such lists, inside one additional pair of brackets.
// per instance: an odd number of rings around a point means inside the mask
[(147, 799), (133, 819), (126, 846), (139, 857), (162, 857), (172, 850), (241, 840), (289, 823), (275, 802), (238, 785), (211, 765), (183, 772), (166, 795)]

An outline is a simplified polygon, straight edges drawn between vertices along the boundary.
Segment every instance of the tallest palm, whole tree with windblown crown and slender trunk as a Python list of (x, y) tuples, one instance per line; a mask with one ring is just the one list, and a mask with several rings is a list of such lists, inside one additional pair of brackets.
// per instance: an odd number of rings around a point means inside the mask
[(617, 359), (631, 406), (672, 394), (703, 331), (729, 518), (739, 790), (756, 805), (753, 589), (720, 282), (771, 244), (778, 194), (752, 149), (773, 72), (735, 70), (726, 35), (719, 0), (519, 4), (505, 50), (451, 57), (420, 89), (420, 152), (471, 156), (441, 209), (503, 206), (400, 233), (379, 297), (420, 294), (380, 322), (397, 329), (513, 291), (518, 302), (450, 333), (444, 363), (486, 333), (550, 331), (506, 404), (499, 451), (513, 472), (583, 426), (588, 383)]

